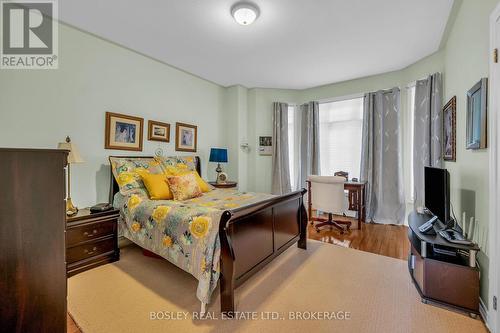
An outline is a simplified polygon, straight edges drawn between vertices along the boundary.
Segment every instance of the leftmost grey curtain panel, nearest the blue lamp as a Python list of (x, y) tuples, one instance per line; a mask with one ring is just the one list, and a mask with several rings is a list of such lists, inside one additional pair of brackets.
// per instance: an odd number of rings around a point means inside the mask
[(288, 104), (273, 103), (273, 194), (291, 192), (288, 160)]

